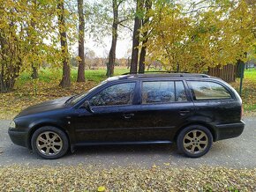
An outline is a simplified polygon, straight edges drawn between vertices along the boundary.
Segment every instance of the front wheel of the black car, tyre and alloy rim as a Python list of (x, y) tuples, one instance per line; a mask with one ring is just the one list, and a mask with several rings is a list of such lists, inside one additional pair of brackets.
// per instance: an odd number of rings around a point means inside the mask
[(37, 129), (31, 139), (33, 151), (43, 159), (58, 159), (69, 149), (69, 140), (64, 131), (46, 126)]

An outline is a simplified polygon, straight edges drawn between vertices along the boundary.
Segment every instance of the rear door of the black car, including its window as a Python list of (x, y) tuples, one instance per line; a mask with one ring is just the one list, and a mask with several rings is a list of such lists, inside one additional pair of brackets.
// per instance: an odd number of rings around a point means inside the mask
[(143, 140), (169, 141), (193, 114), (192, 98), (182, 80), (141, 82), (141, 107), (137, 114)]

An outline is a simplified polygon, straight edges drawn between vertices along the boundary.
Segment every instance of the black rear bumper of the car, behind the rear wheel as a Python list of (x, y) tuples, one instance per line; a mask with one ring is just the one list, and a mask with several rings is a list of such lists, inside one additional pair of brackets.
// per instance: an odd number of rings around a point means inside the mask
[(245, 122), (230, 123), (230, 124), (221, 124), (215, 126), (215, 141), (238, 137), (243, 133), (245, 129)]

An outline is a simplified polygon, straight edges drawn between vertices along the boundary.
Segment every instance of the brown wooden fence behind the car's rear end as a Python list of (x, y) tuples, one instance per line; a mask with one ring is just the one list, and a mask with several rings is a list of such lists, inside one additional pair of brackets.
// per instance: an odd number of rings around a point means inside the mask
[(228, 64), (222, 67), (215, 67), (208, 69), (208, 75), (222, 78), (224, 81), (230, 83), (236, 80), (237, 76), (237, 65)]

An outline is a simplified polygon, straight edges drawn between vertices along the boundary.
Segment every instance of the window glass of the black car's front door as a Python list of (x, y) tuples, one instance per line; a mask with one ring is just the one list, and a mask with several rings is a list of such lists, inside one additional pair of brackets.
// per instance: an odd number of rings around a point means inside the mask
[(135, 83), (111, 85), (89, 100), (91, 106), (132, 105)]

